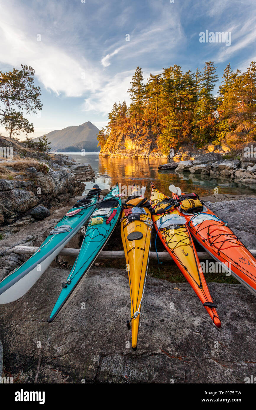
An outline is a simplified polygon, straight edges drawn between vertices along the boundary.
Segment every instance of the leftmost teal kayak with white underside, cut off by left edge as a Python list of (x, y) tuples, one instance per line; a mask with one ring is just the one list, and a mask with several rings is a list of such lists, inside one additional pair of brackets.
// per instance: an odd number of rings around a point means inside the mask
[(101, 189), (98, 185), (85, 191), (79, 200), (49, 232), (38, 250), (0, 282), (0, 304), (16, 301), (25, 295), (53, 262), (62, 248), (88, 220), (99, 201)]

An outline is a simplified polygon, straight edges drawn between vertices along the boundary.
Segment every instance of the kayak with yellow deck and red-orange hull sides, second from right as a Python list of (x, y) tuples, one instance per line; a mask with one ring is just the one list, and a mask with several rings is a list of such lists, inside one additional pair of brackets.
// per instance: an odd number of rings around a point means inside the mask
[[(153, 208), (169, 197), (162, 194), (152, 185), (150, 204)], [(177, 208), (170, 212), (152, 215), (152, 220), (157, 234), (166, 250), (178, 265), (198, 298), (203, 303), (215, 326), (221, 327), (221, 321), (217, 314), (217, 305), (213, 303), (203, 270), (200, 266), (196, 248), (189, 233), (187, 222)]]

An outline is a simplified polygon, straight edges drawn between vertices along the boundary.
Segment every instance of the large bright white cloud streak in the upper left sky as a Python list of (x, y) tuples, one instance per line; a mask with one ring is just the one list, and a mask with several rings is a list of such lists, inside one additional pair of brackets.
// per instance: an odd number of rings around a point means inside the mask
[(44, 39), (37, 41), (36, 34), (31, 39), (29, 34), (14, 24), (12, 10), (0, 6), (0, 61), (12, 66), (31, 65), (40, 82), (46, 89), (57, 95), (64, 93), (68, 97), (82, 96), (85, 92), (95, 91), (101, 86), (101, 76), (95, 66), (84, 57), (71, 56), (53, 41)]

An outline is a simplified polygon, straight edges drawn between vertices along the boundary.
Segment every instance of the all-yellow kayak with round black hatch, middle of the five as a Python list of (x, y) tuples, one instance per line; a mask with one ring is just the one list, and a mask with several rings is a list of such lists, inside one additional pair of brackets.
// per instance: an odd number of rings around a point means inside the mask
[(141, 302), (151, 244), (152, 219), (150, 210), (143, 204), (150, 206), (147, 198), (140, 196), (138, 187), (134, 186), (122, 210), (121, 219), (121, 236), (131, 295), (131, 320), (127, 321), (127, 327), (131, 328), (133, 350), (137, 349)]

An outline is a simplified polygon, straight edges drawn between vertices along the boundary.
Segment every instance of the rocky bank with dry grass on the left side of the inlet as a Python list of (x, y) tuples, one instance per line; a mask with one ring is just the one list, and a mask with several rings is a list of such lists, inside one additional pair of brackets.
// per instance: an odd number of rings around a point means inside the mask
[(39, 206), (39, 216), (43, 207), (46, 216), (47, 208), (82, 194), (84, 182), (95, 179), (90, 165), (67, 155), (38, 153), (3, 137), (0, 144), (13, 146), (12, 159), (0, 161), (0, 226), (32, 219)]

